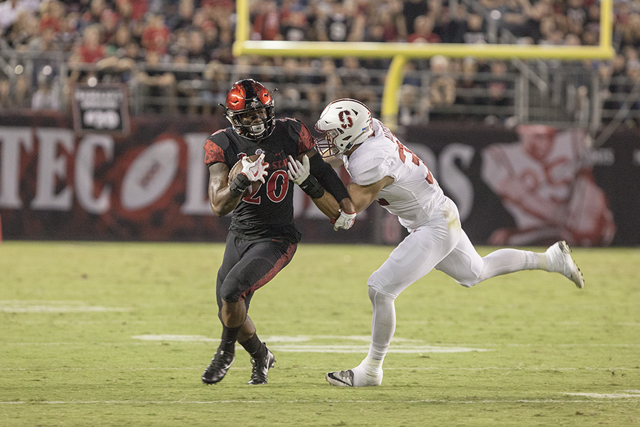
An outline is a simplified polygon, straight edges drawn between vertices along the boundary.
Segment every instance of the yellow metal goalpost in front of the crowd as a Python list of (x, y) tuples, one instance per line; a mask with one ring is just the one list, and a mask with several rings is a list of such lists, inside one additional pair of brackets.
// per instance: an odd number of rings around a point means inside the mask
[(430, 58), (443, 55), (449, 58), (494, 59), (609, 59), (615, 54), (612, 46), (613, 0), (600, 2), (600, 38), (598, 46), (542, 46), (514, 44), (462, 44), (462, 43), (377, 43), (377, 42), (324, 42), (324, 41), (252, 41), (249, 39), (249, 1), (236, 0), (234, 56), (296, 56), (343, 58), (392, 58), (385, 88), (381, 114), (383, 121), (394, 126), (398, 117), (398, 89), (402, 84), (405, 64), (412, 58)]

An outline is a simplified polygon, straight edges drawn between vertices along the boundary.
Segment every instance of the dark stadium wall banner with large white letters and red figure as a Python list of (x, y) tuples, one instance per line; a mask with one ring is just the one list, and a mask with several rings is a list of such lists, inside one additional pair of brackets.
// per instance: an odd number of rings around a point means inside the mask
[[(312, 120), (309, 120), (312, 122)], [(202, 146), (222, 117), (133, 117), (128, 135), (78, 133), (62, 115), (0, 116), (4, 239), (224, 241), (229, 218), (210, 212)], [(527, 154), (527, 132), (550, 139)], [(407, 127), (400, 138), (460, 210), (474, 243), (637, 246), (640, 137), (623, 130), (602, 147), (581, 130), (459, 123)], [(348, 174), (341, 169), (343, 179)], [(379, 206), (353, 230), (329, 222), (296, 189), (306, 243), (396, 243), (404, 236)]]

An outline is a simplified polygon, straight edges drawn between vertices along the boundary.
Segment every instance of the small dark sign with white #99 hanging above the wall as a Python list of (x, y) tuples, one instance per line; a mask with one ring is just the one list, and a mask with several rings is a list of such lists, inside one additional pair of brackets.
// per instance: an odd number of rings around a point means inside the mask
[(73, 85), (73, 128), (76, 133), (129, 133), (129, 102), (124, 84)]

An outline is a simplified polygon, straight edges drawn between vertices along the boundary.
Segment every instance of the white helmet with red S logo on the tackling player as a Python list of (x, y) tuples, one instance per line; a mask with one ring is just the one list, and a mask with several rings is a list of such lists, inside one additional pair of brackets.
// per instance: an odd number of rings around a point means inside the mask
[(373, 134), (371, 110), (360, 101), (344, 98), (324, 107), (316, 130), (323, 134), (316, 147), (323, 157), (344, 154)]

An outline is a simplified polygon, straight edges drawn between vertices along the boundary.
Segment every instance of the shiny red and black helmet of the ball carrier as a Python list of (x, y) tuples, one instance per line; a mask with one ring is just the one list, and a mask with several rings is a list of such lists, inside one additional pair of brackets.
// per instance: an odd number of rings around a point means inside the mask
[(241, 137), (257, 141), (273, 132), (273, 98), (261, 83), (250, 78), (233, 83), (225, 107), (225, 117)]

